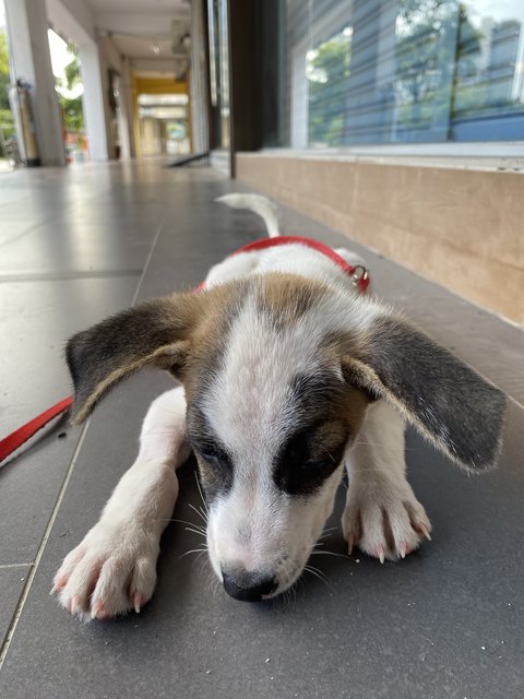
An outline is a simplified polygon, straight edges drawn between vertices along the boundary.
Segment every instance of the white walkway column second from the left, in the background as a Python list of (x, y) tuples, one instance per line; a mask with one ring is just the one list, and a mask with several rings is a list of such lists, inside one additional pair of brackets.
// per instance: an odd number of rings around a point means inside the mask
[(79, 46), (80, 71), (84, 94), (82, 107), (84, 110), (90, 157), (92, 161), (107, 161), (109, 155), (109, 115), (105, 105), (107, 80), (103, 76), (103, 61), (95, 42), (87, 42)]

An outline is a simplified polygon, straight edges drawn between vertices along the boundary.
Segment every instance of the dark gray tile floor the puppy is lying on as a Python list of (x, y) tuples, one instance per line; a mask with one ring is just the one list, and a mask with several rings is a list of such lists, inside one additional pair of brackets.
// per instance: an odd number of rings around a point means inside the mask
[[(243, 188), (205, 168), (143, 162), (0, 178), (0, 435), (67, 394), (72, 332), (134, 297), (191, 287), (263, 233), (253, 215), (213, 202)], [(352, 247), (294, 212), (283, 218), (287, 233)], [(180, 558), (199, 541), (171, 523), (141, 615), (81, 625), (58, 609), (50, 581), (132, 462), (148, 402), (170, 386), (136, 376), (85, 430), (62, 425), (0, 470), (1, 697), (524, 696), (523, 333), (365, 254), (379, 294), (510, 395), (500, 467), (468, 478), (409, 434), (410, 481), (434, 535), (402, 564), (318, 556), (329, 584), (306, 576), (290, 602), (241, 604), (204, 558)], [(191, 463), (180, 479), (175, 517), (194, 521)], [(325, 544), (345, 552), (340, 531)]]

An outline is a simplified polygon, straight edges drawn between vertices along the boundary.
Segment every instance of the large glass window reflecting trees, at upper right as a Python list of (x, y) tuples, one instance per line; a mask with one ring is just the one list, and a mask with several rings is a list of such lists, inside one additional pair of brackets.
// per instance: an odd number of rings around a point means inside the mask
[(524, 140), (523, 0), (287, 0), (294, 147)]

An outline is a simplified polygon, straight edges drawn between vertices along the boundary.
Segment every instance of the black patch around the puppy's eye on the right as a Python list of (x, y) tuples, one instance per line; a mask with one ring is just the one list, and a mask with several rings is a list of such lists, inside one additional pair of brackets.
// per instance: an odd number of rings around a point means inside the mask
[(276, 486), (289, 495), (315, 493), (341, 463), (347, 437), (347, 427), (332, 422), (293, 435), (275, 461)]

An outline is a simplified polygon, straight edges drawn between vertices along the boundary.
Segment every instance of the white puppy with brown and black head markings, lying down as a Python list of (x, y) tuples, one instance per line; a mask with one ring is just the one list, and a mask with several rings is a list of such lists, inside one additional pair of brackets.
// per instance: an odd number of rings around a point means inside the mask
[[(259, 213), (278, 236), (267, 200), (222, 201)], [(71, 614), (108, 618), (151, 599), (176, 469), (191, 450), (211, 564), (225, 591), (248, 601), (299, 578), (344, 469), (349, 552), (358, 544), (383, 562), (430, 538), (405, 477), (405, 422), (468, 471), (496, 463), (504, 395), (360, 293), (364, 262), (336, 253), (342, 266), (301, 242), (246, 250), (214, 266), (199, 293), (144, 301), (70, 340), (76, 424), (143, 367), (181, 383), (151, 405), (136, 461), (55, 578)]]

